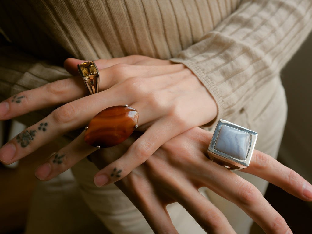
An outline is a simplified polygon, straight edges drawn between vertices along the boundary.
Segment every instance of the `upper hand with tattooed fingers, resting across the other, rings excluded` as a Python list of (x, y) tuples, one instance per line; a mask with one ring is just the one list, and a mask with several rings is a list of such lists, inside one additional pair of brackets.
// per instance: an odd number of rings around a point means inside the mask
[[(69, 59), (65, 67), (77, 74), (77, 64), (82, 62)], [(138, 131), (145, 132), (122, 157), (102, 170), (106, 181), (102, 176), (97, 184), (108, 184), (124, 178), (174, 136), (206, 124), (217, 115), (213, 98), (183, 64), (136, 55), (95, 63), (100, 69), (99, 93), (85, 96), (87, 88), (82, 78), (72, 77), (19, 93), (0, 104), (0, 119), (5, 120), (66, 103), (3, 146), (3, 163), (10, 164), (69, 131), (85, 127), (107, 107), (128, 104), (139, 112)], [(51, 179), (95, 151), (96, 148), (80, 143), (82, 137), (78, 136), (39, 167), (37, 176)], [(49, 172), (40, 173), (42, 168)], [(119, 178), (108, 176), (114, 168), (122, 171)]]

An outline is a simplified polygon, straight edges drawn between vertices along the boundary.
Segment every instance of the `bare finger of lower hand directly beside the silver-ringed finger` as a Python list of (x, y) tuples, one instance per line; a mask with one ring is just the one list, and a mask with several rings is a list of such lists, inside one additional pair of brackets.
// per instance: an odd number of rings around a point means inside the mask
[(210, 160), (198, 163), (197, 170), (206, 171), (198, 178), (203, 186), (235, 203), (266, 233), (285, 234), (290, 230), (283, 217), (261, 192), (245, 179)]

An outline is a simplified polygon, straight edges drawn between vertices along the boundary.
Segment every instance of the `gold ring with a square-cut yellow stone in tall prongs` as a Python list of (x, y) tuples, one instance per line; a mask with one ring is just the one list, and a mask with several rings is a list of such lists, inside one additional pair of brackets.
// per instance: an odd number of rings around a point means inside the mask
[(94, 61), (78, 64), (78, 71), (90, 94), (99, 92), (100, 73)]

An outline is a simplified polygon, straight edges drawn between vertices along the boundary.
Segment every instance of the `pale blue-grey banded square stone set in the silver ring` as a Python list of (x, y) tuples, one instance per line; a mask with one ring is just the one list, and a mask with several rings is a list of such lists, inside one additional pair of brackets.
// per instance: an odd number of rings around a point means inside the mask
[(240, 160), (246, 160), (251, 134), (239, 129), (222, 125), (215, 149)]

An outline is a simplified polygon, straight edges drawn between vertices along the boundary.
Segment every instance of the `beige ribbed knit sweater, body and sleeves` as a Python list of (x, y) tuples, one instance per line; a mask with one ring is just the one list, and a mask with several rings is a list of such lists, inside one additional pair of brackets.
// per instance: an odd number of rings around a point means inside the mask
[[(67, 57), (140, 54), (188, 66), (227, 119), (279, 76), (311, 18), (311, 0), (5, 1), (0, 28), (12, 44), (2, 40), (0, 94), (68, 77), (61, 67)], [(261, 99), (260, 106), (269, 102)], [(22, 120), (33, 124), (47, 113)]]

